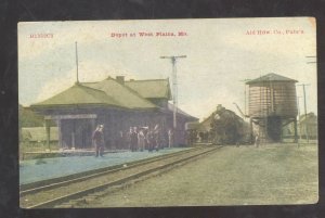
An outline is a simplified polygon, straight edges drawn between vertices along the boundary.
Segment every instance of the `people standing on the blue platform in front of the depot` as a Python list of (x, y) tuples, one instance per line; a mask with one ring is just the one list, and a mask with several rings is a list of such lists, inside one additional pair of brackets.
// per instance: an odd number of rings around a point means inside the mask
[[(95, 148), (95, 156), (104, 154), (104, 126), (99, 125), (92, 134), (93, 145)], [(161, 131), (158, 125), (154, 128), (150, 127), (130, 127), (130, 130), (123, 134), (119, 131), (117, 149), (129, 149), (132, 152), (159, 151), (166, 146), (173, 146), (173, 131), (169, 129), (167, 132)]]

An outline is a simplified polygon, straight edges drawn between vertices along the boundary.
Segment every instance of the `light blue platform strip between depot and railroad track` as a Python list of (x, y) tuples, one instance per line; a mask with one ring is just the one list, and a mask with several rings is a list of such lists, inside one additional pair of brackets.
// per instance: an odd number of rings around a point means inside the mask
[[(80, 151), (70, 151), (65, 153), (64, 156), (58, 157), (21, 161), (20, 184), (28, 184), (82, 171), (110, 167), (187, 149), (190, 148), (171, 148), (153, 152), (148, 152), (147, 150), (143, 152), (106, 151), (103, 157), (84, 155), (86, 153), (80, 153)], [(88, 153), (89, 152), (91, 151), (88, 151)], [(93, 151), (92, 154), (94, 154)]]

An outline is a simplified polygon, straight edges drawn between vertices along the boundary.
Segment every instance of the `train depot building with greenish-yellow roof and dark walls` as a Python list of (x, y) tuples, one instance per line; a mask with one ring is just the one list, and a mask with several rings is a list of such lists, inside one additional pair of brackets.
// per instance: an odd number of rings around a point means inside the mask
[[(91, 149), (92, 132), (99, 124), (104, 125), (106, 149), (127, 149), (130, 127), (158, 126), (161, 137), (173, 128), (173, 105), (168, 102), (171, 98), (169, 79), (127, 81), (117, 76), (98, 82), (76, 82), (30, 107), (44, 115), (48, 143), (49, 121), (55, 120), (62, 149)], [(197, 120), (177, 108), (174, 144), (186, 143), (185, 124)]]

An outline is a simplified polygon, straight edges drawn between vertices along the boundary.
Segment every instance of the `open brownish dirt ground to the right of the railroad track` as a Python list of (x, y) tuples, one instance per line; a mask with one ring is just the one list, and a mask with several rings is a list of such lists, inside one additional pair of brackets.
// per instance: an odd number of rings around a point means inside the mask
[(89, 207), (313, 204), (317, 145), (224, 146)]

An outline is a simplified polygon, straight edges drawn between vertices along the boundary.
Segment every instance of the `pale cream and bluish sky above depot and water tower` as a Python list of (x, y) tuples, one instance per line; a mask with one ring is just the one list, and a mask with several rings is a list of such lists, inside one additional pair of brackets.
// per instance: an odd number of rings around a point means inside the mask
[[(160, 56), (186, 55), (177, 61), (178, 105), (200, 120), (218, 104), (245, 111), (244, 80), (269, 73), (307, 84), (307, 112), (317, 114), (316, 64), (308, 63), (316, 61), (315, 33), (312, 17), (18, 23), (18, 101), (29, 106), (72, 87), (77, 42), (81, 82), (122, 75), (172, 85), (171, 62)], [(302, 114), (301, 86), (297, 95)]]

